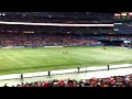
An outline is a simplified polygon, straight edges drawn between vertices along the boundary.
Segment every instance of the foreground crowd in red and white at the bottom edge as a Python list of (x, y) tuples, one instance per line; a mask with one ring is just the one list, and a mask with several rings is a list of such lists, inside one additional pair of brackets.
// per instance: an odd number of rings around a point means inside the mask
[[(7, 84), (4, 87), (8, 87)], [(53, 79), (46, 81), (25, 82), (12, 87), (132, 87), (132, 75), (112, 76), (91, 79)]]

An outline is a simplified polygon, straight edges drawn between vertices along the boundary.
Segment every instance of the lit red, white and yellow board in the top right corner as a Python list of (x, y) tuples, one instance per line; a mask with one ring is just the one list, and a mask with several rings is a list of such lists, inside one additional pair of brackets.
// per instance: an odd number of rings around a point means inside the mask
[(132, 19), (132, 12), (114, 13), (114, 19)]

